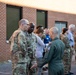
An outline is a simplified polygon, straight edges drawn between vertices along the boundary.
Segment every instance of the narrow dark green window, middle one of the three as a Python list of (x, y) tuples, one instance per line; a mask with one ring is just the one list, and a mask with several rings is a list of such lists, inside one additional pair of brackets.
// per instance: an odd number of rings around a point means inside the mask
[(47, 11), (37, 10), (37, 25), (47, 27)]

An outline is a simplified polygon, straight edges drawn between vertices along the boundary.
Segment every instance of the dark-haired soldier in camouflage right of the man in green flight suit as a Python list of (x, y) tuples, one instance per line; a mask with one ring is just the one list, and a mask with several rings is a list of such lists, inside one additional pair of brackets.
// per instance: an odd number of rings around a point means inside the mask
[(67, 28), (63, 28), (62, 34), (60, 35), (60, 39), (65, 44), (64, 56), (63, 56), (65, 75), (68, 75), (70, 71), (70, 52), (71, 52), (71, 47), (69, 45), (69, 39), (67, 37), (67, 33), (68, 33), (67, 31), (68, 31)]

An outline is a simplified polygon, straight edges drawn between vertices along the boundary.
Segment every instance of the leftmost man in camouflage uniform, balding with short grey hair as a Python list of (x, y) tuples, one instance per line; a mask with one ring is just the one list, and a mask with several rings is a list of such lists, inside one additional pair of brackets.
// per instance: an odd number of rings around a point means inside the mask
[(28, 20), (21, 19), (19, 29), (10, 38), (13, 75), (28, 75), (27, 66), (30, 59), (27, 52), (27, 37), (25, 36), (28, 24)]

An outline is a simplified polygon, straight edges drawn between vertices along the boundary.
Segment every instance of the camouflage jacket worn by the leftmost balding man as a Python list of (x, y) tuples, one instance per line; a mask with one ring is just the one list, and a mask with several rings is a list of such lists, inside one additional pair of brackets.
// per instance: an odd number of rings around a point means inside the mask
[(28, 55), (25, 32), (20, 30), (16, 37), (11, 37), (11, 53), (14, 63), (27, 62), (25, 60), (25, 55)]

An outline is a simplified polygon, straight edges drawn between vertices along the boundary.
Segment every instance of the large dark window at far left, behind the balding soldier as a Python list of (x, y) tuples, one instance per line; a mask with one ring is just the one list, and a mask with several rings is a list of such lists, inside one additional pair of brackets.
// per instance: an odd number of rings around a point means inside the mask
[(18, 21), (22, 18), (22, 8), (16, 6), (6, 6), (6, 40), (9, 40), (12, 33), (18, 29)]

